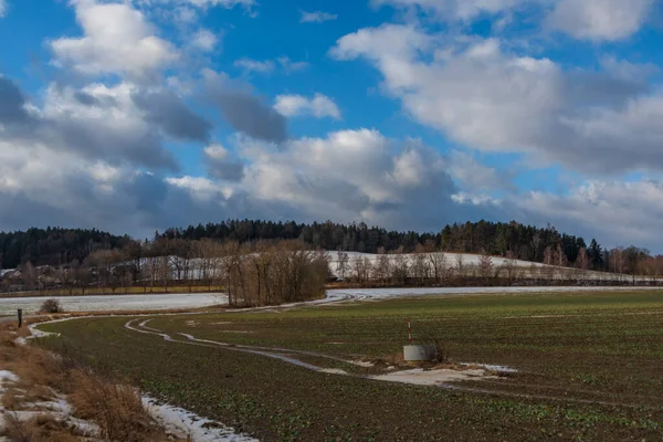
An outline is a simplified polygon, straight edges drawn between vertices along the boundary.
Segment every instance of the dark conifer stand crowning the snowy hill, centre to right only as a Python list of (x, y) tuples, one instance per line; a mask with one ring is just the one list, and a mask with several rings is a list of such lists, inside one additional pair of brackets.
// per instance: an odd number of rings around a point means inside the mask
[[(274, 222), (262, 220), (228, 220), (206, 225), (189, 225), (183, 229), (168, 229), (157, 232), (155, 238), (186, 240), (232, 240), (248, 242), (255, 240), (299, 239), (316, 249), (330, 251), (378, 253), (402, 250), (412, 253), (418, 246), (432, 246), (443, 252), (485, 253), (533, 262), (545, 262), (546, 251), (558, 251), (569, 263), (575, 263), (585, 249), (592, 270), (608, 270), (604, 251), (592, 240), (588, 245), (581, 236), (558, 232), (554, 227), (535, 228), (515, 221), (465, 222), (448, 224), (436, 233), (398, 232), (366, 223), (339, 224), (332, 221), (312, 224)], [(549, 253), (549, 252), (548, 252)]]

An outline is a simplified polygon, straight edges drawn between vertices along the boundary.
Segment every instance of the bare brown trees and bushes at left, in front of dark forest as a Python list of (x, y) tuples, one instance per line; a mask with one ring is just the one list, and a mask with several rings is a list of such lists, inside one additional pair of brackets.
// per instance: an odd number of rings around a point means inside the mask
[[(301, 240), (236, 241), (158, 239), (97, 250), (82, 263), (35, 267), (28, 262), (0, 290), (70, 295), (168, 293), (223, 287), (232, 306), (262, 306), (324, 297), (329, 256)], [(10, 275), (11, 276), (11, 275)]]

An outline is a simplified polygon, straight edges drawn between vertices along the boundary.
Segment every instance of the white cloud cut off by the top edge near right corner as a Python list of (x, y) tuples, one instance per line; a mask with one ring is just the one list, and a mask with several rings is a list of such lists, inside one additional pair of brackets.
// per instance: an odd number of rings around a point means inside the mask
[(583, 40), (622, 40), (640, 30), (655, 0), (559, 0), (546, 22)]

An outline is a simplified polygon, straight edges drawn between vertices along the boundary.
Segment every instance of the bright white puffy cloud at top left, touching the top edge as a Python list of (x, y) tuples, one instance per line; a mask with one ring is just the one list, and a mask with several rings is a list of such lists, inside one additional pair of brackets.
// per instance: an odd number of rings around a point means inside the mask
[(59, 64), (84, 74), (144, 76), (178, 56), (173, 45), (155, 35), (143, 13), (127, 3), (75, 0), (82, 38), (51, 42)]

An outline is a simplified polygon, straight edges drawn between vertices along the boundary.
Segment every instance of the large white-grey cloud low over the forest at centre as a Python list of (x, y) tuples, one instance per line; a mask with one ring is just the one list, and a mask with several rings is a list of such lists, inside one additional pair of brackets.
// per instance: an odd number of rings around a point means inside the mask
[[(282, 149), (240, 139), (238, 149), (246, 164), (238, 189), (254, 203), (269, 201), (307, 219), (409, 222), (414, 229), (433, 218), (439, 222), (456, 191), (439, 152), (377, 130), (301, 138)], [(427, 199), (435, 204), (422, 204)]]

